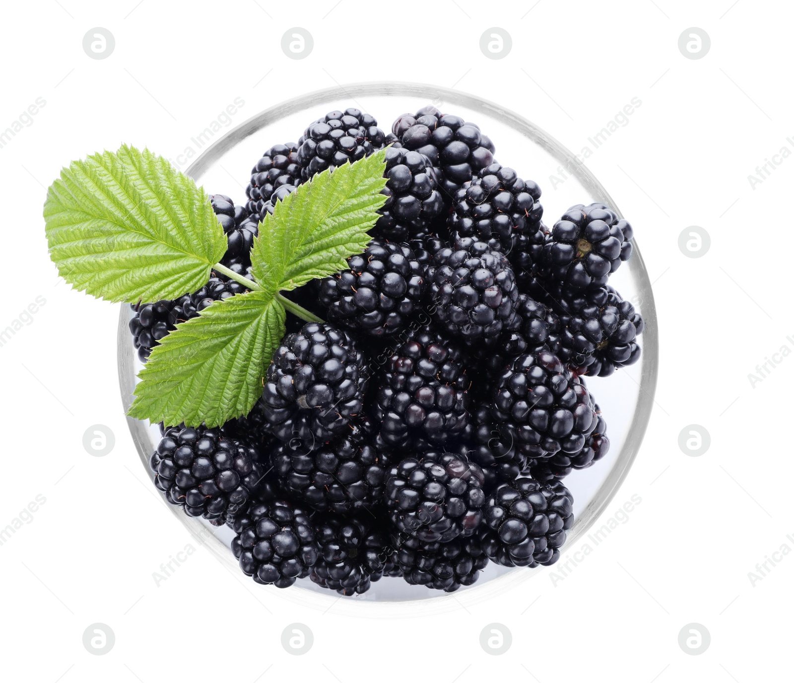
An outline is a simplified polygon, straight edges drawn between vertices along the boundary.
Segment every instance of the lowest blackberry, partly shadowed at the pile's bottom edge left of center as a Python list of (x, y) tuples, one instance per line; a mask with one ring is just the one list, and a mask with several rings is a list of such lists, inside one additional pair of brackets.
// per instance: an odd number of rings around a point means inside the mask
[(323, 588), (360, 595), (387, 569), (387, 536), (369, 518), (328, 515), (318, 521), (317, 540), (320, 554), (309, 577)]

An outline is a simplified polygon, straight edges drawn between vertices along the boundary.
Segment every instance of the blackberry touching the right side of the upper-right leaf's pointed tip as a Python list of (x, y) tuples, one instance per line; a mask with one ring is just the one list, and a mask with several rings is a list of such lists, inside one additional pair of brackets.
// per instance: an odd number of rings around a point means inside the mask
[(391, 147), (386, 151), (386, 203), (373, 233), (390, 241), (408, 241), (432, 232), (444, 210), (435, 169), (419, 152)]

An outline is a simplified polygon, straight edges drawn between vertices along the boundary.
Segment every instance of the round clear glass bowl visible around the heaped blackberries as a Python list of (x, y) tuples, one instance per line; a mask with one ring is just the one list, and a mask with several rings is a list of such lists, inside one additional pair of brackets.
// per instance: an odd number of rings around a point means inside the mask
[[(541, 185), (545, 190), (541, 202), (547, 225), (552, 225), (556, 216), (576, 203), (602, 202), (619, 213), (615, 200), (576, 160), (576, 156), (520, 114), (475, 95), (414, 83), (359, 83), (328, 88), (282, 102), (230, 129), (198, 154), (186, 172), (208, 193), (229, 195), (235, 203), (243, 203), (250, 170), (261, 153), (276, 143), (296, 141), (306, 125), (326, 112), (357, 106), (376, 116), (381, 128), (388, 132), (391, 122), (399, 114), (414, 112), (430, 103), (477, 122), (494, 142), (495, 156), (500, 163), (515, 168), (519, 176), (534, 179)], [(552, 184), (550, 176), (556, 176), (555, 187), (549, 187)], [(637, 219), (635, 233), (638, 233), (640, 241), (642, 231), (642, 222)], [(588, 387), (607, 419), (611, 450), (593, 467), (574, 471), (565, 480), (575, 499), (576, 522), (569, 531), (562, 556), (565, 556), (567, 548), (576, 546), (578, 539), (609, 505), (626, 477), (646, 432), (656, 389), (659, 362), (657, 317), (638, 240), (634, 241), (634, 256), (615, 272), (610, 282), (624, 299), (634, 303), (645, 318), (646, 328), (640, 339), (642, 358), (636, 365), (620, 369), (610, 377), (588, 378)], [(118, 374), (125, 411), (133, 399), (137, 372), (143, 367), (129, 334), (131, 315), (130, 307), (123, 305), (118, 322)], [(141, 465), (151, 478), (148, 459), (160, 438), (160, 431), (157, 426), (136, 419), (127, 420)], [(373, 583), (363, 596), (338, 600), (336, 593), (319, 588), (309, 579), (299, 580), (287, 590), (254, 584), (237, 567), (229, 549), (233, 534), (228, 527), (212, 527), (202, 519), (184, 515), (177, 507), (167, 507), (218, 561), (238, 574), (242, 581), (249, 581), (251, 590), (277, 590), (279, 596), (323, 612), (332, 604), (335, 604), (337, 612), (378, 618), (444, 612), (460, 608), (461, 604), (491, 600), (508, 590), (522, 590), (519, 586), (523, 581), (546, 571), (541, 567), (508, 569), (491, 563), (481, 573), (479, 581), (453, 594), (411, 586), (400, 579), (386, 577)]]

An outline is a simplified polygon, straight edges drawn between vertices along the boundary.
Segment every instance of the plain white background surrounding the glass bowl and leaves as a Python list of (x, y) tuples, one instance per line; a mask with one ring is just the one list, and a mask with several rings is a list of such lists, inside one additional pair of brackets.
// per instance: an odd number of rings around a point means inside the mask
[[(786, 140), (794, 136), (792, 9), (750, 0), (135, 2), (3, 8), (0, 130), (37, 98), (46, 102), (0, 149), (0, 328), (37, 296), (46, 300), (0, 347), (0, 527), (45, 500), (0, 546), (4, 679), (790, 678), (794, 558), (773, 552), (794, 549), (786, 538), (794, 534), (794, 359), (754, 386), (748, 373), (781, 346), (794, 349), (794, 159), (755, 187), (748, 176), (782, 147), (794, 152)], [(314, 37), (303, 60), (281, 49), (294, 26)], [(93, 27), (114, 35), (105, 60), (83, 52)], [(511, 34), (501, 60), (480, 52), (490, 27)], [(679, 51), (689, 27), (711, 38), (702, 59)], [(450, 598), (436, 615), (322, 613), (238, 580), (201, 546), (156, 585), (160, 563), (196, 544), (158, 500), (129, 438), (116, 377), (118, 307), (71, 291), (48, 260), (45, 187), (70, 160), (121, 142), (172, 157), (235, 97), (245, 106), (233, 125), (307, 91), (376, 79), (491, 98), (575, 152), (632, 98), (642, 101), (587, 160), (634, 224), (654, 280), (657, 404), (603, 517), (631, 496), (642, 502), (564, 580), (542, 569), (499, 599)], [(553, 198), (549, 179), (536, 179)], [(679, 249), (688, 226), (711, 236), (701, 258)], [(83, 449), (94, 424), (115, 434), (105, 457)], [(700, 457), (678, 446), (690, 424), (711, 434)], [(751, 581), (767, 556), (781, 561)], [(103, 656), (83, 646), (93, 623), (115, 634)], [(314, 634), (301, 656), (281, 644), (291, 623)], [(490, 623), (512, 634), (499, 656), (480, 647)], [(711, 634), (698, 656), (679, 646), (688, 623)]]

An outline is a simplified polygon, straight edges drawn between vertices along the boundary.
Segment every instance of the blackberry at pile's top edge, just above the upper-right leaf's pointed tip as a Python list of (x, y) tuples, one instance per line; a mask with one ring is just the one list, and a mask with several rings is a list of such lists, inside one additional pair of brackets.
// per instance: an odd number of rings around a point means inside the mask
[(363, 159), (384, 146), (386, 136), (369, 114), (349, 107), (331, 111), (310, 124), (298, 141), (301, 178), (306, 181), (326, 168)]

